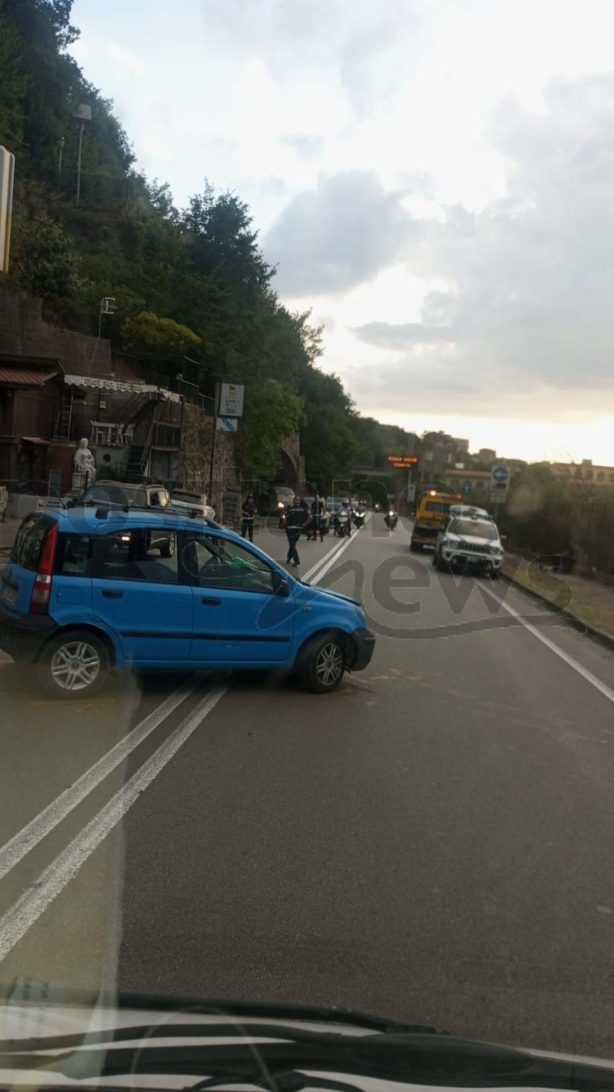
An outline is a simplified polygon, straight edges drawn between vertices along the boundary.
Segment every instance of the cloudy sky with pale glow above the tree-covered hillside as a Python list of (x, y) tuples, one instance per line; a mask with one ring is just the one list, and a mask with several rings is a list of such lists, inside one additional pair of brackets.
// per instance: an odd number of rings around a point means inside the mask
[(250, 204), (358, 408), (614, 463), (612, 0), (74, 0), (182, 204)]

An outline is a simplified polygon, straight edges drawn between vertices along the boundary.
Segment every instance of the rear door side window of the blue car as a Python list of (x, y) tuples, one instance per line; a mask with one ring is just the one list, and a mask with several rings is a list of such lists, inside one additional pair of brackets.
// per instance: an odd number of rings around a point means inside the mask
[(101, 577), (104, 580), (141, 580), (155, 584), (178, 583), (177, 553), (163, 558), (155, 535), (150, 527), (131, 527), (105, 535)]

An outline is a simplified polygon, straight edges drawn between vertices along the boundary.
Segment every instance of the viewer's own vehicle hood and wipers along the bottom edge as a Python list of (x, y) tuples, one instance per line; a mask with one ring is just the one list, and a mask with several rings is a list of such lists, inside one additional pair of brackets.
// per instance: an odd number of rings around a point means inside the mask
[(10, 987), (0, 1082), (45, 1089), (614, 1089), (614, 1063), (338, 1009)]

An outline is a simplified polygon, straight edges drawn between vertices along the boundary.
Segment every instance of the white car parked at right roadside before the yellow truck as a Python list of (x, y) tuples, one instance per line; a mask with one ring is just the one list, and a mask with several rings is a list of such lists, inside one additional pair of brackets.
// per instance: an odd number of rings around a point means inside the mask
[(444, 570), (477, 570), (499, 577), (504, 547), (496, 523), (476, 515), (453, 517), (437, 538), (433, 566)]

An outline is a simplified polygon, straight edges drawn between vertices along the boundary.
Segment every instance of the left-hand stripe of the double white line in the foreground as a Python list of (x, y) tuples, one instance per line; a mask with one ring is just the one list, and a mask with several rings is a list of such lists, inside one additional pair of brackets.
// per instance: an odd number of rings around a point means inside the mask
[(68, 788), (64, 788), (55, 800), (43, 811), (39, 811), (31, 822), (22, 827), (13, 838), (0, 847), (0, 880), (25, 857), (35, 845), (49, 834), (55, 827), (85, 799), (90, 793), (108, 778), (123, 760), (154, 732), (155, 728), (173, 713), (186, 698), (196, 690), (200, 679), (190, 679), (169, 695), (162, 705), (145, 716), (131, 732), (103, 755), (94, 765), (90, 767)]

